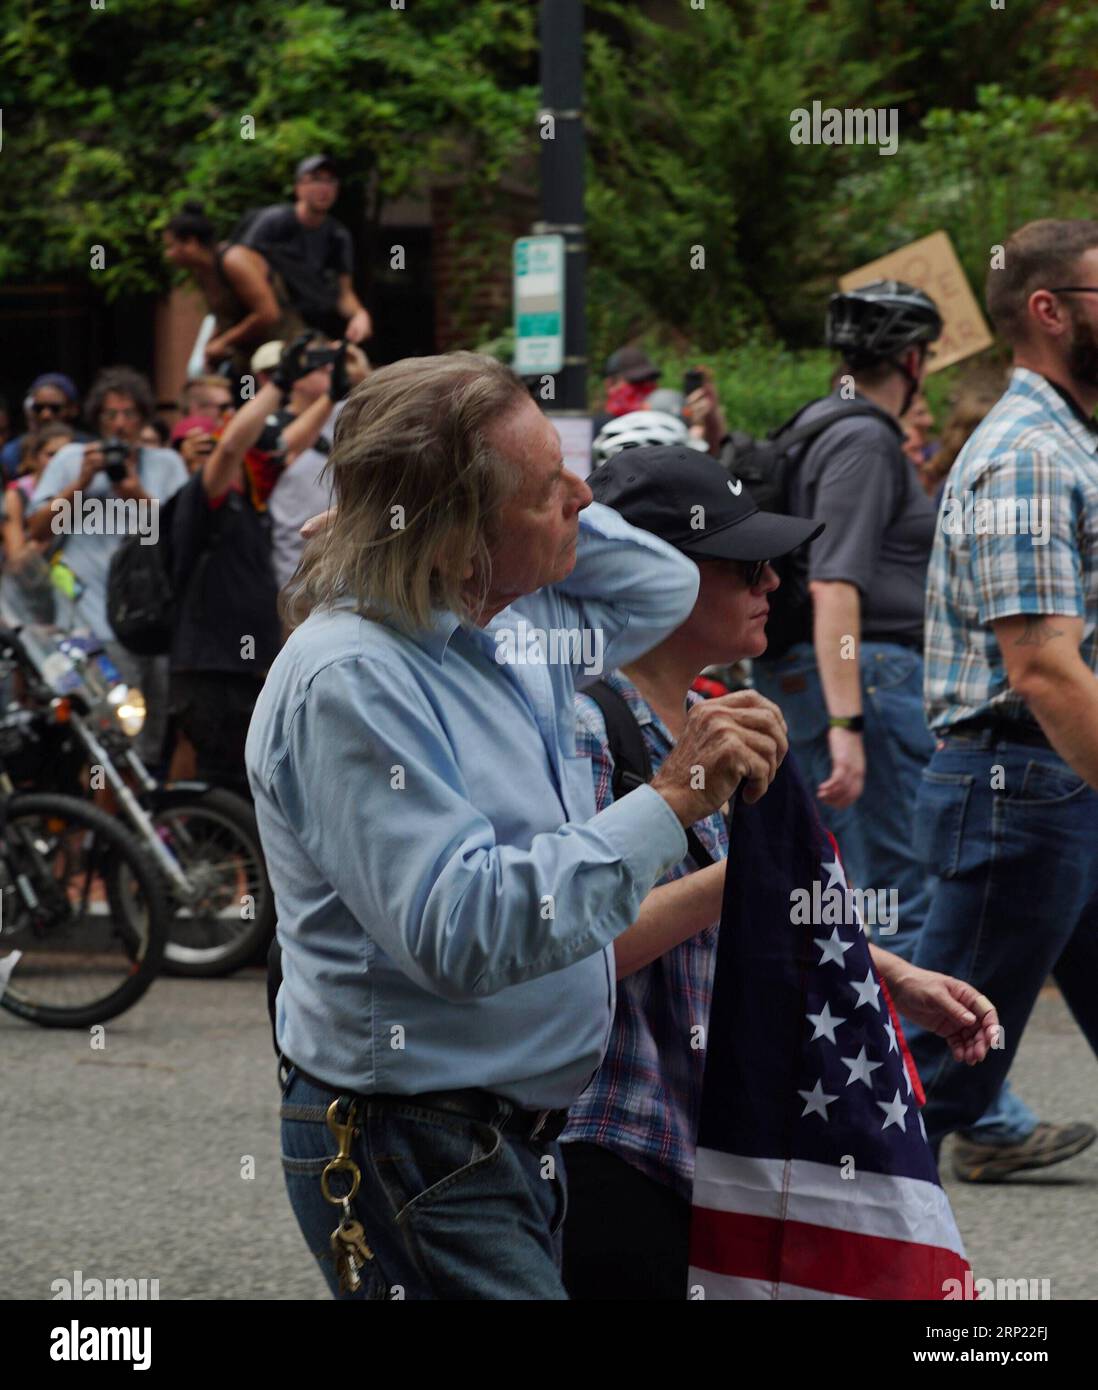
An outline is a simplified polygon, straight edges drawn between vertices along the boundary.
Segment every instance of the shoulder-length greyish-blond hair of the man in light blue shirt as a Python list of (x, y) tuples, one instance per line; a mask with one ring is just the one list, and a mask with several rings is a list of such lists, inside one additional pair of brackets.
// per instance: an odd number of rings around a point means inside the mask
[(485, 431), (528, 399), (510, 367), (471, 352), (404, 357), (360, 382), (325, 468), (335, 518), (284, 589), (286, 624), (346, 599), (404, 631), (432, 609), (470, 620), (466, 569), (482, 599), (496, 514), (521, 484)]

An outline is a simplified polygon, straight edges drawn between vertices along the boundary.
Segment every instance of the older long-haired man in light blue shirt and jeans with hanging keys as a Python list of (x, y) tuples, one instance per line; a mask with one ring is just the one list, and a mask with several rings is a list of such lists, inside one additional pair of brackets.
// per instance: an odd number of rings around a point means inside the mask
[[(606, 1047), (614, 941), (684, 827), (763, 795), (784, 724), (751, 692), (696, 706), (595, 812), (560, 656), (649, 651), (698, 570), (592, 505), (507, 367), (384, 367), (329, 466), (247, 739), (290, 1202), (336, 1297), (563, 1298), (556, 1136)], [(520, 631), (581, 637), (510, 659)]]

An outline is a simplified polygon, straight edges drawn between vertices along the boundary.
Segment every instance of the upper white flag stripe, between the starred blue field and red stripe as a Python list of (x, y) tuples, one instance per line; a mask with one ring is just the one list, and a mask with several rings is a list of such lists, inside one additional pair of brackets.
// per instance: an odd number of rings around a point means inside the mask
[(694, 1205), (937, 1245), (965, 1258), (949, 1198), (937, 1183), (919, 1177), (856, 1169), (842, 1177), (831, 1163), (802, 1158), (787, 1163), (699, 1148)]

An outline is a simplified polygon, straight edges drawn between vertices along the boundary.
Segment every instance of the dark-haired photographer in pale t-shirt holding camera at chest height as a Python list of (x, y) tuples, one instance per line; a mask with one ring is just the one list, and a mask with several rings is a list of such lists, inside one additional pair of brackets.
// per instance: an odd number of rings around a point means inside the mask
[[(145, 514), (153, 532), (160, 505), (186, 482), (186, 468), (174, 449), (139, 442), (154, 413), (153, 392), (132, 367), (106, 367), (92, 384), (85, 402), (88, 425), (97, 438), (58, 449), (38, 480), (28, 507), (26, 531), (32, 541), (60, 538), (56, 557), (57, 626), (88, 630), (107, 645), (122, 680), (145, 694), (146, 720), (138, 752), (160, 759), (167, 716), (167, 662), (138, 657), (114, 639), (107, 620), (107, 573), (111, 556), (133, 524)], [(145, 507), (111, 507), (113, 498), (146, 503)]]

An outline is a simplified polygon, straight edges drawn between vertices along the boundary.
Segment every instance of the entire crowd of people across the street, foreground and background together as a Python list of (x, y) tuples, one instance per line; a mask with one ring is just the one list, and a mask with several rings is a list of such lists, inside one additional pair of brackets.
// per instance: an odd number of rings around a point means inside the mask
[[(691, 1038), (726, 869), (751, 872), (730, 816), (787, 753), (849, 883), (898, 899), (873, 960), (935, 1154), (952, 1134), (956, 1175), (999, 1182), (1081, 1152), (1094, 1127), (1008, 1077), (1049, 974), (1098, 1051), (1098, 224), (1006, 242), (1012, 370), (937, 439), (938, 306), (878, 281), (831, 297), (833, 389), (766, 448), (705, 368), (669, 391), (616, 352), (584, 481), (507, 367), (371, 371), (334, 196), (317, 156), (225, 243), (186, 207), (165, 253), (214, 324), (178, 418), (132, 368), (82, 410), (50, 373), (0, 455), (6, 582), (107, 644), (153, 762), (254, 798), (286, 1183), (332, 1293), (685, 1297)], [(51, 524), (78, 493), (157, 506), (167, 651), (117, 639), (124, 538)], [(970, 496), (1016, 521), (1047, 499), (1044, 538), (945, 525)], [(520, 617), (598, 634), (602, 694), (575, 660), (502, 660)], [(360, 1277), (318, 1182), (334, 1102)]]

